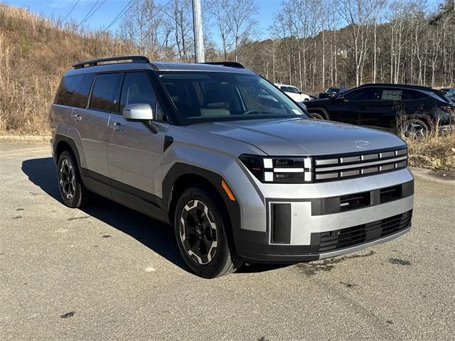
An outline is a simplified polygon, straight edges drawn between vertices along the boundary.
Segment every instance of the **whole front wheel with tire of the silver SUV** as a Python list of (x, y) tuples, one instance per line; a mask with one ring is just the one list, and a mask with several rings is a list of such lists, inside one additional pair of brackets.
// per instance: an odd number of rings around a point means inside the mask
[(204, 278), (230, 274), (242, 266), (230, 236), (228, 215), (213, 190), (194, 185), (176, 205), (178, 249), (191, 270)]

